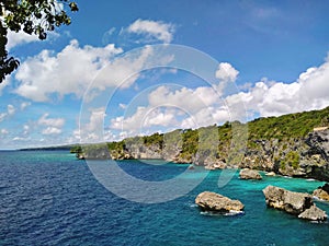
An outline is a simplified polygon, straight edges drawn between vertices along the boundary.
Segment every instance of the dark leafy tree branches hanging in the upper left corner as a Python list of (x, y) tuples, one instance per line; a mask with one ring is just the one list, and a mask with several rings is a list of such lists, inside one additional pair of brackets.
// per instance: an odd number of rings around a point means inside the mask
[(67, 8), (71, 12), (79, 10), (71, 0), (0, 0), (0, 83), (20, 66), (20, 61), (8, 54), (8, 32), (23, 31), (44, 40), (47, 32), (71, 23)]

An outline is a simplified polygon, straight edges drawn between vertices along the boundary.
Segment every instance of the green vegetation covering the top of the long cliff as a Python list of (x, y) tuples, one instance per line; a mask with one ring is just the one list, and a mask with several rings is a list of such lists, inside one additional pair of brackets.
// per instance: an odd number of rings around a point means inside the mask
[[(263, 140), (271, 140), (280, 145), (279, 155), (275, 155), (275, 163), (285, 169), (292, 166), (297, 169), (299, 166), (299, 154), (296, 151), (288, 151), (295, 140), (307, 137), (315, 127), (329, 126), (329, 107), (321, 110), (313, 110), (297, 114), (290, 114), (280, 117), (254, 119), (247, 124), (238, 121), (225, 122), (223, 126), (209, 126), (200, 129), (174, 130), (161, 134), (155, 133), (145, 137), (127, 138), (120, 142), (109, 142), (106, 148), (115, 156), (123, 156), (136, 147), (141, 151), (145, 147), (154, 147), (157, 150), (169, 150), (175, 153), (179, 149), (179, 159), (192, 162), (193, 157), (198, 159), (214, 156), (225, 159), (234, 164), (239, 163), (241, 154), (246, 150), (260, 150)], [(248, 138), (246, 130), (248, 129)], [(243, 139), (246, 138), (246, 139)], [(245, 145), (246, 144), (246, 145)], [(91, 152), (104, 150), (103, 144), (90, 144), (82, 148)], [(79, 147), (71, 150), (75, 153), (81, 151)], [(241, 154), (240, 154), (241, 153)], [(260, 161), (260, 160), (259, 160)]]

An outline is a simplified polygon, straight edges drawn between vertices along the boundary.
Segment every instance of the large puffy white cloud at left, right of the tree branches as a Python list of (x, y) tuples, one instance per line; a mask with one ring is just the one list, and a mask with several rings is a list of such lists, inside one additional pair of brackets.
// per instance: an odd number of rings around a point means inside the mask
[[(129, 87), (138, 79), (138, 72), (154, 62), (155, 52), (146, 46), (134, 55), (113, 59), (121, 52), (114, 45), (81, 48), (77, 40), (58, 54), (43, 50), (20, 66), (15, 74), (20, 83), (14, 92), (35, 102), (49, 102), (70, 94), (80, 98), (91, 83), (88, 94), (91, 98), (107, 87)], [(172, 59), (161, 58), (157, 63), (163, 66)]]

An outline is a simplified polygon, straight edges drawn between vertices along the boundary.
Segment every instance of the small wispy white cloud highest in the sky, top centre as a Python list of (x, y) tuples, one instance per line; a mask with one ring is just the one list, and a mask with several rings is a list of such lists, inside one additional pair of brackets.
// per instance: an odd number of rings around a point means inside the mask
[(172, 40), (174, 30), (174, 25), (170, 23), (138, 19), (131, 24), (126, 31), (128, 33), (145, 35), (146, 42), (152, 42), (156, 39), (168, 44)]

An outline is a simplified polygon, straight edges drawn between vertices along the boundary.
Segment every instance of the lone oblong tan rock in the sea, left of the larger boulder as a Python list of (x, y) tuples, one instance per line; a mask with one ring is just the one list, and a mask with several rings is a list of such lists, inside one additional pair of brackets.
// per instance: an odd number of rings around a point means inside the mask
[(204, 211), (214, 212), (242, 211), (245, 208), (243, 203), (239, 200), (231, 200), (211, 191), (197, 195), (195, 203)]

